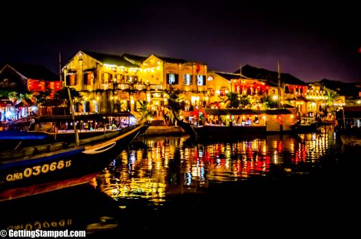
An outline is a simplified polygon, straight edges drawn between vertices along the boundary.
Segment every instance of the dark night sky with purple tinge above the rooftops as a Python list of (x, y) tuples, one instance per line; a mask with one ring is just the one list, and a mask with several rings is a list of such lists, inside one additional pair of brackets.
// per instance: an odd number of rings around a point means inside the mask
[(57, 71), (59, 51), (68, 61), (85, 49), (184, 58), (234, 72), (245, 64), (276, 70), (280, 60), (282, 72), (304, 81), (361, 82), (356, 3), (133, 2), (6, 3), (0, 61)]

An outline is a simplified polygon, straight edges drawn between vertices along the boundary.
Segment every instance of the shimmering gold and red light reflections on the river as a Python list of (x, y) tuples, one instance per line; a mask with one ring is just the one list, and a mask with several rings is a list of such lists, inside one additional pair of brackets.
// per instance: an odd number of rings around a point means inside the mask
[(186, 137), (146, 139), (146, 147), (122, 152), (93, 186), (115, 200), (146, 199), (162, 205), (168, 197), (202, 193), (209, 184), (273, 174), (308, 173), (338, 147), (332, 128), (263, 139), (191, 142)]

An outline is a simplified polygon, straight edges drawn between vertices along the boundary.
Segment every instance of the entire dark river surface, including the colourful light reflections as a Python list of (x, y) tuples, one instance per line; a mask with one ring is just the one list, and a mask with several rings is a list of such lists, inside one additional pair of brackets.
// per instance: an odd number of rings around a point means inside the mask
[(139, 137), (90, 184), (3, 204), (1, 226), (102, 238), (315, 229), (345, 236), (360, 216), (360, 153), (341, 147), (329, 126), (237, 141)]

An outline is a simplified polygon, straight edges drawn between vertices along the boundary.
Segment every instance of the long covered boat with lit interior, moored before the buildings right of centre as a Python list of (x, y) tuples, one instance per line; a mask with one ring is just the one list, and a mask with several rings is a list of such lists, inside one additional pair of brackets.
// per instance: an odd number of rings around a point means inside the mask
[[(178, 122), (193, 137), (244, 137), (291, 130), (294, 115), (287, 109), (202, 109), (202, 121)], [(219, 122), (222, 122), (219, 124)]]

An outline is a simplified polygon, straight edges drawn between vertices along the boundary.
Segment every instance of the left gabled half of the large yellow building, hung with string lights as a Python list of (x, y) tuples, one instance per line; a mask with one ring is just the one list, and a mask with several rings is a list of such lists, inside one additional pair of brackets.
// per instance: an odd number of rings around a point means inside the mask
[(77, 113), (110, 113), (134, 110), (135, 100), (146, 100), (139, 85), (136, 64), (124, 56), (79, 51), (62, 68), (64, 85), (81, 93)]

